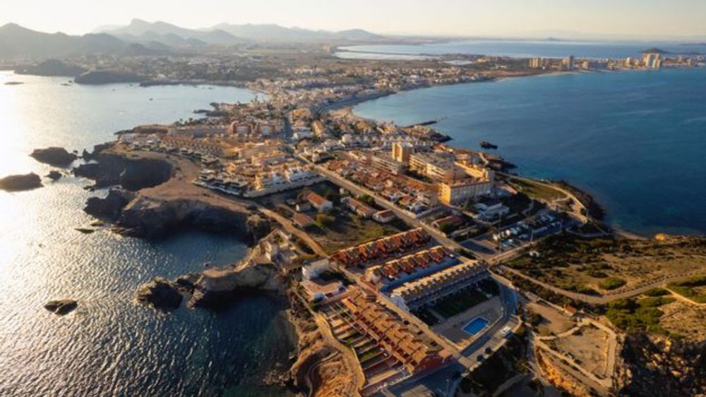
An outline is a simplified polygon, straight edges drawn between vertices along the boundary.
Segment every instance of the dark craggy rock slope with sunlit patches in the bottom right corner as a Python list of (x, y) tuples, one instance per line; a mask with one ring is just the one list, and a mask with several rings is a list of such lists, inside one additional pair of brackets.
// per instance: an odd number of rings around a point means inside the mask
[(629, 335), (621, 353), (619, 378), (625, 396), (706, 394), (706, 342), (664, 336)]

